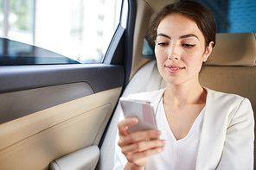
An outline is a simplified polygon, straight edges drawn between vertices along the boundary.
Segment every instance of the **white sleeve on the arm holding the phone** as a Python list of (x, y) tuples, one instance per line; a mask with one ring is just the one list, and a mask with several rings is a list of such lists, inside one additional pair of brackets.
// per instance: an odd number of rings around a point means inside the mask
[[(123, 114), (123, 112), (121, 112), (121, 114), (119, 116), (119, 122), (121, 120), (123, 120), (124, 118), (125, 118), (124, 114)], [(122, 154), (122, 150), (118, 146), (118, 141), (119, 141), (119, 135), (117, 133), (116, 141), (115, 141), (115, 154), (114, 154), (114, 168), (113, 168), (113, 170), (122, 170), (122, 169), (124, 169), (126, 163), (128, 162), (126, 160), (125, 154)]]

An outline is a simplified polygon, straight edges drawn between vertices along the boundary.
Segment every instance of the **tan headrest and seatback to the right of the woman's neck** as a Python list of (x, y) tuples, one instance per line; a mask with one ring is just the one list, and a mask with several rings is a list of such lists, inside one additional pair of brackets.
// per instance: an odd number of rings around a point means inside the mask
[(249, 98), (256, 110), (256, 41), (253, 33), (219, 34), (200, 73), (203, 86)]

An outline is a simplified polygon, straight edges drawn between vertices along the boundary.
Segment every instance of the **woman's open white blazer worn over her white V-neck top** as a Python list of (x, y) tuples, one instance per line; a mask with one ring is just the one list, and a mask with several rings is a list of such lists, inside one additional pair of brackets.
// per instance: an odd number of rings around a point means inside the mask
[[(254, 118), (247, 98), (208, 91), (196, 170), (253, 170)], [(165, 89), (131, 94), (147, 100), (156, 112)]]

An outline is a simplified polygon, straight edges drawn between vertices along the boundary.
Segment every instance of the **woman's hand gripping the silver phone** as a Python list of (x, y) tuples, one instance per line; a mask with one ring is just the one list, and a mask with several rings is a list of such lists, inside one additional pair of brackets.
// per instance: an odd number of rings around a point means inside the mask
[(149, 161), (149, 156), (164, 150), (165, 141), (157, 139), (161, 132), (157, 129), (142, 130), (129, 134), (127, 127), (138, 123), (137, 117), (128, 117), (118, 123), (120, 139), (118, 145), (125, 154), (127, 166), (132, 169), (143, 169)]

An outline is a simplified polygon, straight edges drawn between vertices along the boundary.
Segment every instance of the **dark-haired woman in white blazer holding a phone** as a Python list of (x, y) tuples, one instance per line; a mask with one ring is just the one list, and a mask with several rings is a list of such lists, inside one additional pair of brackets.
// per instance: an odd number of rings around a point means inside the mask
[(119, 122), (114, 169), (253, 169), (249, 100), (199, 83), (215, 33), (214, 17), (200, 3), (170, 4), (151, 17), (157, 66), (167, 87), (129, 98), (157, 105), (157, 129), (129, 134), (127, 127), (138, 119)]

